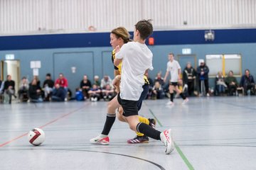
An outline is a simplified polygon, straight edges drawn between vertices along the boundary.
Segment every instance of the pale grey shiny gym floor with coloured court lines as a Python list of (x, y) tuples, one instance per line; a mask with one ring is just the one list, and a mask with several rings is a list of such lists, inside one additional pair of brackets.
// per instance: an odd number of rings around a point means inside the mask
[[(129, 145), (135, 133), (116, 120), (110, 145), (92, 145), (106, 117), (107, 102), (16, 103), (0, 105), (0, 169), (256, 169), (255, 96), (144, 101), (141, 115), (156, 129), (172, 128), (176, 149), (161, 142)], [(26, 133), (42, 128), (43, 145)]]

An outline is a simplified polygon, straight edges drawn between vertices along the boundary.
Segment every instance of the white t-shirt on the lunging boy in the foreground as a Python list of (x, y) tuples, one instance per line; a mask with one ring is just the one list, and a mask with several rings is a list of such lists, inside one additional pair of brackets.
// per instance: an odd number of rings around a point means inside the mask
[(122, 59), (120, 97), (124, 100), (138, 101), (144, 85), (146, 69), (153, 69), (153, 54), (145, 44), (128, 42), (116, 53)]

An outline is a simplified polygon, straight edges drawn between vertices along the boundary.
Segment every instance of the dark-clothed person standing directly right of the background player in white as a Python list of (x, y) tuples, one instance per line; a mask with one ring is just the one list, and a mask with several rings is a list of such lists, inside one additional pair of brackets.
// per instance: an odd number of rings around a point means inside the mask
[(184, 89), (187, 89), (188, 96), (193, 95), (195, 79), (196, 79), (196, 70), (191, 66), (191, 63), (188, 62), (188, 64), (186, 64), (186, 68), (183, 71)]

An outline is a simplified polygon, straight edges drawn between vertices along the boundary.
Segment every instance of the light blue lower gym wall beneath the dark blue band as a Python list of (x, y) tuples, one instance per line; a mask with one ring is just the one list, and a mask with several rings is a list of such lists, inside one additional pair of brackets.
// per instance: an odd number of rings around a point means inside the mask
[[(241, 54), (242, 70), (250, 69), (251, 74), (256, 77), (256, 43), (243, 44), (217, 44), (217, 45), (155, 45), (149, 46), (154, 54), (154, 70), (150, 72), (150, 77), (154, 79), (157, 72), (166, 72), (167, 55), (174, 52), (181, 55), (182, 48), (191, 48), (192, 54), (198, 59), (205, 59), (208, 54)], [(100, 78), (104, 74), (113, 77), (113, 66), (111, 61), (111, 47), (85, 47), (85, 48), (66, 48), (48, 50), (10, 50), (0, 51), (0, 60), (5, 59), (6, 54), (14, 54), (16, 60), (21, 62), (21, 77), (26, 76), (29, 80), (33, 77), (30, 68), (31, 60), (40, 60), (39, 78), (41, 82), (45, 79), (46, 73), (50, 72), (53, 78), (57, 78), (60, 72), (72, 77), (70, 86), (79, 86), (83, 74), (88, 74), (89, 79), (94, 75)], [(77, 63), (77, 64), (76, 64)], [(75, 64), (75, 65), (73, 65)], [(71, 73), (70, 66), (78, 67), (75, 74)], [(243, 72), (243, 71), (242, 71)], [(164, 76), (164, 75), (163, 75)], [(210, 86), (214, 86), (213, 79)], [(74, 91), (74, 89), (72, 89)]]

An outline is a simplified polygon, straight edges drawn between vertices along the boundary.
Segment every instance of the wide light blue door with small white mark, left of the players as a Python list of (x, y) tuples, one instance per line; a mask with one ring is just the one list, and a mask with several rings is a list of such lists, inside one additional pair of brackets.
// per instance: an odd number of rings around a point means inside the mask
[(53, 54), (53, 79), (63, 73), (68, 79), (68, 88), (75, 96), (75, 89), (80, 86), (84, 74), (93, 83), (93, 52), (58, 52)]

